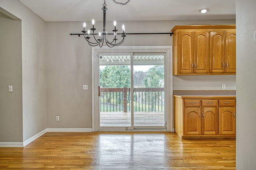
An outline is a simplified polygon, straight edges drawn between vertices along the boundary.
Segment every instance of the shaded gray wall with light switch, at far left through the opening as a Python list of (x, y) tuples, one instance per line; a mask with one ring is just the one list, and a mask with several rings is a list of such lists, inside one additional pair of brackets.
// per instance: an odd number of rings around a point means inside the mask
[(0, 12), (0, 37), (0, 142), (22, 142), (21, 21)]

